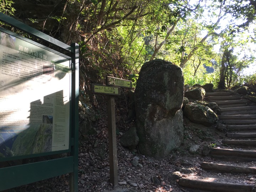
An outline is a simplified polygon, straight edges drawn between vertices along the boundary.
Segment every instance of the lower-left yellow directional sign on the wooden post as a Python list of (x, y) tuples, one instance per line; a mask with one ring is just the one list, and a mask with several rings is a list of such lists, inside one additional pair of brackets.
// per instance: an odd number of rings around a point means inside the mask
[(120, 87), (112, 87), (106, 85), (91, 84), (92, 93), (106, 95), (121, 95)]

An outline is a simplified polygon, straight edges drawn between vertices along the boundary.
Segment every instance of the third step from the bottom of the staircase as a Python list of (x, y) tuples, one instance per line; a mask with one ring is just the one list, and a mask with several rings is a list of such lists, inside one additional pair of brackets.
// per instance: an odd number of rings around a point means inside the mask
[(256, 151), (212, 148), (210, 156), (216, 159), (222, 159), (231, 162), (251, 162), (255, 161), (256, 159)]

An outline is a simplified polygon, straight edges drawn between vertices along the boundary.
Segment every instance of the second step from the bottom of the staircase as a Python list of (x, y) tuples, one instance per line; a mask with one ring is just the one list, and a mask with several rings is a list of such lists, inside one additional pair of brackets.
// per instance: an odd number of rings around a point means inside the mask
[(215, 164), (209, 162), (203, 162), (201, 164), (202, 169), (210, 170), (218, 173), (244, 173), (244, 174), (256, 174), (256, 168), (252, 167), (239, 167), (233, 165)]

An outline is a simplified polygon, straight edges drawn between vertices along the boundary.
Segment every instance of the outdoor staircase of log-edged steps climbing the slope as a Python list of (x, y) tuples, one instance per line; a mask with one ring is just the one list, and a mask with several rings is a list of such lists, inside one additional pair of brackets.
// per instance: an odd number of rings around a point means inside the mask
[(211, 149), (199, 176), (180, 178), (179, 185), (197, 192), (256, 192), (256, 103), (232, 91), (210, 92), (206, 99), (220, 107), (226, 139)]

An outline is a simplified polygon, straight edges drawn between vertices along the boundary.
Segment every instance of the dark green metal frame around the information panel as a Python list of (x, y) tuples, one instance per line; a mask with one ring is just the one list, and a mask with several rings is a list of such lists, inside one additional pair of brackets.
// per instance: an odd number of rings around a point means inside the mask
[[(71, 54), (71, 101), (70, 101), (70, 138), (69, 150), (54, 151), (43, 154), (32, 154), (27, 156), (17, 156), (16, 158), (3, 158), (4, 161), (18, 160), (23, 158), (32, 158), (35, 156), (45, 156), (70, 152), (70, 155), (64, 158), (39, 161), (24, 165), (10, 166), (0, 169), (0, 191), (9, 188), (26, 185), (28, 183), (44, 180), (63, 174), (70, 174), (70, 192), (78, 191), (78, 97), (79, 97), (79, 45), (77, 43), (71, 46), (54, 39), (24, 23), (15, 20), (3, 13), (0, 13), (0, 21), (12, 27), (15, 27), (31, 36), (39, 38), (45, 42), (67, 50)], [(9, 32), (11, 33), (11, 32)], [(15, 35), (15, 33), (13, 33)], [(19, 37), (21, 38), (21, 37)], [(22, 38), (25, 41), (29, 39)], [(31, 42), (31, 41), (30, 41)], [(44, 47), (36, 42), (37, 46)], [(46, 48), (46, 47), (44, 47)], [(61, 54), (56, 52), (57, 54)], [(63, 55), (63, 54), (62, 54)], [(66, 58), (70, 58), (65, 55)], [(2, 160), (1, 160), (2, 161)], [(1, 162), (0, 162), (1, 163)], [(17, 179), (18, 178), (18, 179)]]

